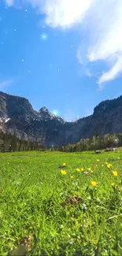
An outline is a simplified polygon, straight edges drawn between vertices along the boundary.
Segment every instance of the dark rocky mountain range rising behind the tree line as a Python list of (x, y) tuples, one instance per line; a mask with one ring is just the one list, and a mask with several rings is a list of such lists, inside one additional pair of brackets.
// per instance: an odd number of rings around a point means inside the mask
[(51, 145), (76, 143), (93, 135), (122, 132), (122, 96), (101, 102), (94, 113), (66, 122), (46, 107), (35, 111), (28, 99), (0, 91), (0, 128), (19, 138)]

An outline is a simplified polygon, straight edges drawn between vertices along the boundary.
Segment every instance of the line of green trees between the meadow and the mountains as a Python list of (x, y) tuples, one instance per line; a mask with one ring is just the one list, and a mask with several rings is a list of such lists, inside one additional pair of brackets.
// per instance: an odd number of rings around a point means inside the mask
[[(50, 150), (62, 152), (81, 152), (87, 150), (102, 150), (106, 147), (121, 147), (122, 133), (93, 136), (91, 139), (80, 139), (76, 144), (65, 146), (53, 146)], [(35, 143), (29, 139), (18, 139), (16, 135), (0, 132), (0, 151), (27, 151), (27, 150), (49, 150), (46, 143)]]

